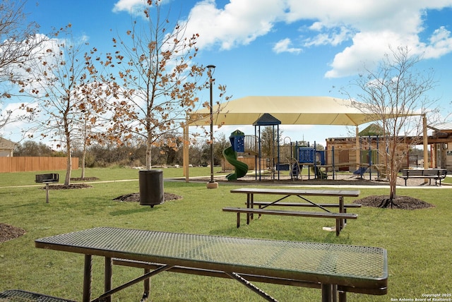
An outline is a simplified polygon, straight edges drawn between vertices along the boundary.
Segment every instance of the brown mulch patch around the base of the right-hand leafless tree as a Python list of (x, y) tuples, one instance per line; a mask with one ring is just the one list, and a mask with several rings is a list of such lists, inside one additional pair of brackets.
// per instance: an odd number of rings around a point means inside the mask
[[(389, 196), (386, 195), (372, 195), (357, 199), (353, 203), (360, 203), (364, 207), (381, 207), (388, 198)], [(420, 210), (428, 209), (429, 207), (434, 207), (434, 205), (410, 196), (396, 196), (393, 200), (393, 209)]]

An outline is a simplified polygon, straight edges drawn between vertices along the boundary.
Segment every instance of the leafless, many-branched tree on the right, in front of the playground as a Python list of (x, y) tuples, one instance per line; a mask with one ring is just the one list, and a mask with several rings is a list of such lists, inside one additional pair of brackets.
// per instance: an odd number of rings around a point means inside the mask
[(366, 74), (353, 83), (362, 91), (355, 107), (372, 114), (383, 129), (384, 148), (379, 152), (385, 159), (391, 192), (381, 207), (393, 206), (403, 159), (413, 145), (422, 142), (422, 118), (436, 111), (436, 100), (427, 95), (436, 83), (434, 72), (418, 71), (420, 61), (422, 56), (410, 54), (408, 47), (391, 49), (375, 71), (366, 68)]

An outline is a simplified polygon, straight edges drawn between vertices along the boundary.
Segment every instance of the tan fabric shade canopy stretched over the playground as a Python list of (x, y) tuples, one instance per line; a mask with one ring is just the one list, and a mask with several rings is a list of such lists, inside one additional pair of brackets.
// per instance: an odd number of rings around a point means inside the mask
[[(375, 114), (357, 108), (356, 102), (350, 99), (251, 96), (215, 105), (213, 124), (252, 125), (266, 113), (280, 120), (283, 125), (358, 126), (378, 119)], [(207, 125), (210, 125), (208, 108), (189, 114), (189, 126)]]

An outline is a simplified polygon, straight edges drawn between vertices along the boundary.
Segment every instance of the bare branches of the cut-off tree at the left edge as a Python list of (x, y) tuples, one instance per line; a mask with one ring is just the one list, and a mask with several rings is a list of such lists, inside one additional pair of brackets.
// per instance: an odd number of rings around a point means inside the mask
[[(17, 68), (30, 60), (30, 55), (46, 38), (37, 34), (39, 26), (28, 23), (24, 12), (26, 1), (0, 2), (0, 105), (16, 94), (11, 79), (17, 78)], [(14, 110), (17, 110), (14, 112)], [(0, 131), (9, 123), (30, 120), (35, 109), (23, 103), (14, 109), (0, 108)]]

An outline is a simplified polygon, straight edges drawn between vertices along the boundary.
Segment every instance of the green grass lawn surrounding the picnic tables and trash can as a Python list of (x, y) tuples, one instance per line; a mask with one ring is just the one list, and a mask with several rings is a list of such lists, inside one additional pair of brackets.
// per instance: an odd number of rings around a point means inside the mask
[[(190, 169), (190, 176), (209, 173), (209, 168)], [(333, 224), (329, 219), (267, 215), (249, 225), (242, 221), (242, 227), (237, 229), (236, 215), (222, 212), (221, 208), (243, 206), (245, 200), (242, 195), (229, 193), (231, 188), (239, 186), (227, 183), (208, 190), (205, 183), (165, 181), (165, 192), (181, 195), (183, 199), (150, 208), (112, 200), (138, 192), (138, 171), (88, 169), (86, 176), (98, 177), (100, 181), (91, 183), (93, 188), (50, 191), (50, 203), (46, 204), (45, 191), (34, 183), (35, 174), (0, 174), (0, 222), (27, 231), (20, 238), (0, 243), (0, 291), (25, 289), (80, 301), (83, 255), (38, 249), (33, 241), (108, 226), (379, 246), (388, 250), (388, 294), (348, 294), (348, 301), (391, 301), (391, 298), (398, 301), (399, 298), (422, 298), (422, 294), (452, 293), (452, 188), (398, 188), (398, 195), (420, 198), (435, 207), (414, 211), (353, 209), (350, 212), (356, 212), (358, 219), (350, 221), (336, 237), (333, 232), (322, 230)], [(59, 174), (60, 179), (64, 179), (64, 171)], [(73, 177), (78, 176), (80, 171), (74, 171)], [(183, 171), (164, 169), (164, 176), (182, 177)], [(121, 179), (131, 181), (119, 181)], [(360, 197), (388, 193), (384, 188), (360, 191)], [(352, 198), (345, 198), (345, 202), (352, 203)], [(94, 260), (93, 296), (97, 296), (103, 288), (103, 262), (96, 257)], [(138, 272), (141, 270), (114, 267), (114, 285), (137, 277)], [(152, 301), (262, 301), (245, 286), (229, 279), (164, 272), (153, 277), (151, 286)], [(280, 301), (320, 300), (317, 289), (273, 284), (258, 286)], [(137, 301), (141, 294), (142, 284), (137, 284), (114, 295), (113, 301)]]

